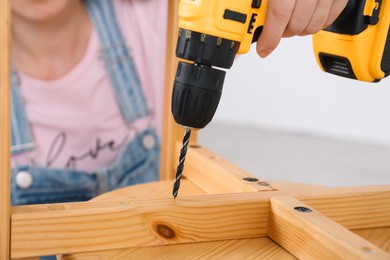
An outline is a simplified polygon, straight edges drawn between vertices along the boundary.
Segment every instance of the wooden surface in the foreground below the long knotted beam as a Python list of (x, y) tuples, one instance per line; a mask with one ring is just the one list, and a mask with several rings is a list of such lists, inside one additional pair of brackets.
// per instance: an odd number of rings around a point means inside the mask
[(87, 259), (296, 259), (267, 237), (203, 243), (129, 248), (62, 255), (59, 260)]

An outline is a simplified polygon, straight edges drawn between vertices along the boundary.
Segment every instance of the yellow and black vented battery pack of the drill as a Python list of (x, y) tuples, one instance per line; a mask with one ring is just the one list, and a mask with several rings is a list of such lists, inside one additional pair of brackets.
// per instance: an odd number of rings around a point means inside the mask
[(390, 1), (349, 1), (336, 21), (313, 35), (313, 50), (329, 73), (377, 82), (390, 74)]

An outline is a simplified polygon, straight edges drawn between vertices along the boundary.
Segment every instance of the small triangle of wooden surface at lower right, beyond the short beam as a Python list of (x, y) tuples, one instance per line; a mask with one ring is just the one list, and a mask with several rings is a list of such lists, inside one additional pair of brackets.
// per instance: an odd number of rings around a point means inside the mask
[(352, 232), (390, 253), (390, 227), (354, 229)]

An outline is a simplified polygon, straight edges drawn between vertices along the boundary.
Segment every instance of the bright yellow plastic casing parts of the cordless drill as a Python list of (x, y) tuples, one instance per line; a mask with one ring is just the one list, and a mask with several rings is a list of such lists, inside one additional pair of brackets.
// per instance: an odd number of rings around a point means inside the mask
[[(357, 0), (351, 0), (357, 1)], [(362, 0), (363, 1), (363, 0)], [(240, 44), (238, 54), (247, 53), (257, 28), (264, 25), (267, 0), (181, 0), (179, 4), (179, 27), (208, 36), (227, 39)], [(370, 15), (378, 7), (376, 0), (366, 0), (364, 15)], [(357, 35), (320, 31), (313, 36), (315, 57), (324, 70), (319, 54), (326, 53), (349, 60), (356, 79), (376, 81), (385, 77), (381, 62), (390, 26), (390, 1), (382, 0), (379, 22)], [(226, 10), (245, 16), (245, 22), (226, 19)], [(189, 35), (190, 37), (190, 35)], [(257, 40), (257, 39), (255, 39)]]

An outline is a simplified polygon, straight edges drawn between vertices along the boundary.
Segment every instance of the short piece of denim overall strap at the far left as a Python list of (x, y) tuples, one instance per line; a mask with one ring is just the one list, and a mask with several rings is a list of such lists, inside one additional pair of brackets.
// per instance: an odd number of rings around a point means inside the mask
[(11, 153), (17, 154), (32, 150), (35, 146), (20, 90), (20, 79), (14, 68), (11, 69)]

